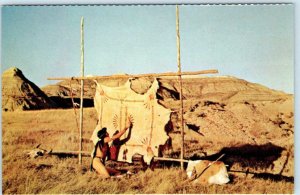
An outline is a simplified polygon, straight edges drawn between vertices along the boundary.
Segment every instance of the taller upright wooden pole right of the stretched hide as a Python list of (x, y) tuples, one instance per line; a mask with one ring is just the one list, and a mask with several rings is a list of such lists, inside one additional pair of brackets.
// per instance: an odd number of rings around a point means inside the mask
[[(176, 37), (177, 37), (177, 65), (178, 65), (178, 79), (179, 79), (179, 85), (180, 85), (180, 126), (181, 126), (181, 154), (180, 158), (183, 160), (184, 158), (184, 123), (183, 123), (183, 99), (182, 99), (182, 78), (181, 78), (181, 63), (180, 63), (180, 34), (179, 34), (179, 8), (178, 5), (176, 5)], [(181, 169), (183, 170), (183, 161), (180, 162)]]

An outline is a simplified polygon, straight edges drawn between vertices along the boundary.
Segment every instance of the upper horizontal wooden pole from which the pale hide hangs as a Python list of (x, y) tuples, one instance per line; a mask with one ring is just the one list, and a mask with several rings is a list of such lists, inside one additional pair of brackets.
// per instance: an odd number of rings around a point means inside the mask
[(137, 77), (164, 77), (164, 76), (184, 76), (184, 75), (199, 75), (199, 74), (216, 74), (218, 70), (201, 70), (194, 72), (166, 72), (166, 73), (148, 73), (148, 74), (122, 74), (122, 75), (110, 75), (110, 76), (90, 76), (90, 77), (53, 77), (48, 80), (94, 80), (94, 79), (105, 79), (105, 78), (137, 78)]

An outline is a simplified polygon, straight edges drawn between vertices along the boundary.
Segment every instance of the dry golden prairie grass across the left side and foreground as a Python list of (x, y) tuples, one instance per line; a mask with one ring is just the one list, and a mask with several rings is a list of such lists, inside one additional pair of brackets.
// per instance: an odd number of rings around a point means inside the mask
[[(79, 112), (77, 111), (77, 116)], [(84, 109), (83, 138), (89, 139), (97, 122), (94, 108)], [(74, 110), (42, 110), (2, 113), (2, 192), (30, 193), (293, 193), (284, 180), (230, 175), (227, 185), (201, 186), (184, 182), (179, 167), (140, 171), (131, 177), (102, 179), (89, 171), (90, 158), (42, 156), (30, 159), (26, 151), (41, 144), (53, 150), (77, 150), (78, 129)], [(72, 141), (73, 140), (73, 141)], [(83, 150), (92, 144), (85, 141)]]

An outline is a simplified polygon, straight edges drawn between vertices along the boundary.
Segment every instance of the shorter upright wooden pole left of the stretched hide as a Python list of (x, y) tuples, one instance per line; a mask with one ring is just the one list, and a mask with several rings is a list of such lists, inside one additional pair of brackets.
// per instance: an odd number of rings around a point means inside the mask
[[(80, 72), (81, 72), (81, 77), (84, 77), (84, 32), (83, 32), (83, 27), (84, 27), (84, 19), (81, 17), (81, 33), (80, 33), (80, 38), (81, 38), (81, 63), (80, 63)], [(82, 128), (83, 128), (83, 79), (80, 81), (81, 84), (81, 91), (80, 91), (80, 132), (79, 132), (79, 164), (82, 164)]]

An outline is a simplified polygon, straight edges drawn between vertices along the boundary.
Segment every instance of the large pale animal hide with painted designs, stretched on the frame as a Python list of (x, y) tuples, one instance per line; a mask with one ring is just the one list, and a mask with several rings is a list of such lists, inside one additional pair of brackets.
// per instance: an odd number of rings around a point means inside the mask
[(91, 140), (96, 144), (97, 131), (102, 127), (112, 136), (116, 130), (124, 128), (128, 117), (133, 127), (121, 137), (126, 141), (120, 148), (118, 161), (132, 162), (134, 154), (147, 156), (149, 147), (158, 156), (159, 145), (163, 145), (168, 136), (164, 131), (170, 119), (171, 111), (158, 104), (156, 92), (159, 88), (155, 79), (151, 88), (143, 95), (134, 92), (128, 80), (124, 86), (107, 87), (97, 83), (94, 105), (98, 113), (98, 124)]

